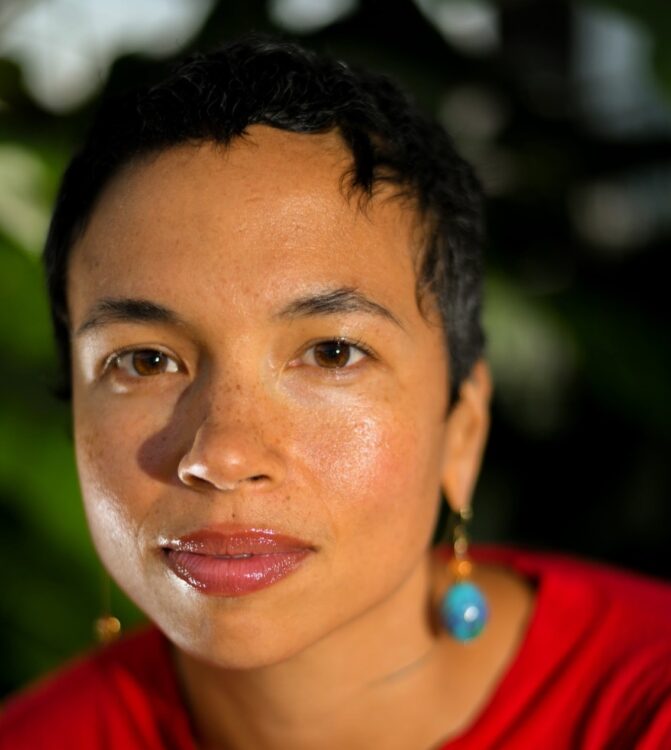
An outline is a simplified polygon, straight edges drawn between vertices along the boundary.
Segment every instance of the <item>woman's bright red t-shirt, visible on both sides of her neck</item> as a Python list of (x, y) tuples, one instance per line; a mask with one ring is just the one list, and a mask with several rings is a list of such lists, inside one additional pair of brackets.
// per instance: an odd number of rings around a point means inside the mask
[[(671, 750), (671, 585), (528, 550), (472, 555), (538, 597), (484, 710), (441, 750)], [(164, 636), (129, 636), (14, 698), (0, 748), (195, 750)]]

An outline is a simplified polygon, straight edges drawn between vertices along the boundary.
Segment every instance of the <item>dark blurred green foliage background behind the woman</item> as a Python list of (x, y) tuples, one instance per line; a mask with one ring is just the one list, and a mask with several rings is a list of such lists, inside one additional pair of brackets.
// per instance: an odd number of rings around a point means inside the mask
[[(194, 0), (188, 38), (119, 44), (111, 67), (94, 49), (93, 90), (67, 95), (48, 77), (40, 95), (15, 52), (40, 5), (48, 67), (68, 0), (0, 5), (0, 695), (90, 646), (100, 607), (68, 408), (50, 396), (39, 253), (59, 175), (103, 88), (250, 29), (397, 77), (485, 184), (496, 393), (475, 539), (669, 577), (671, 4)], [(89, 3), (103, 23), (108, 5)], [(139, 619), (118, 592), (114, 607)]]

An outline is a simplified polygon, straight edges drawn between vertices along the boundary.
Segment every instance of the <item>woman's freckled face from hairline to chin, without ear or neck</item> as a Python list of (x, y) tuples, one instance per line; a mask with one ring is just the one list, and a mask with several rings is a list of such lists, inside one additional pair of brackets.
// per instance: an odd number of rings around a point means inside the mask
[[(180, 146), (116, 177), (73, 249), (95, 545), (178, 647), (220, 665), (373, 627), (426, 559), (449, 461), (443, 333), (415, 299), (413, 212), (384, 192), (362, 211), (349, 166), (334, 134)], [(226, 588), (249, 564), (227, 557), (240, 538), (284, 540), (256, 588)]]

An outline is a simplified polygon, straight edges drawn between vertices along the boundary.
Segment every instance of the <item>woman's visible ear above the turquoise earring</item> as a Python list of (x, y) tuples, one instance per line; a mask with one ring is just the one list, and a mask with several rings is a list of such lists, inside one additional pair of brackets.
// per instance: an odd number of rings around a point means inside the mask
[(489, 434), (491, 395), (489, 366), (480, 359), (461, 384), (459, 401), (445, 423), (441, 486), (454, 511), (471, 502)]

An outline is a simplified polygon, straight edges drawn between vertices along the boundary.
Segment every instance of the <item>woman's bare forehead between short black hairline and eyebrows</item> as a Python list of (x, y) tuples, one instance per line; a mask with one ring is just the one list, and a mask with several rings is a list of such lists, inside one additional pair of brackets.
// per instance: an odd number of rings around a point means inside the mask
[(265, 126), (226, 147), (188, 144), (127, 166), (73, 249), (71, 307), (146, 297), (148, 285), (156, 299), (244, 307), (320, 284), (396, 299), (412, 316), (416, 214), (391, 188), (362, 207), (348, 190), (351, 166), (336, 133)]

